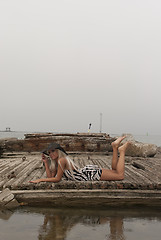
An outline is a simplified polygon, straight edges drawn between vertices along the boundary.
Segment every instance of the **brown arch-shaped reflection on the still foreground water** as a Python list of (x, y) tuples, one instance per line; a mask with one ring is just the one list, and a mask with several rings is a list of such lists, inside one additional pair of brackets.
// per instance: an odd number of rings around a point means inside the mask
[[(83, 214), (83, 215), (82, 215)], [(47, 213), (44, 215), (43, 225), (39, 229), (39, 240), (65, 240), (70, 230), (80, 224), (83, 226), (98, 226), (107, 225), (110, 228), (110, 233), (107, 229), (107, 238), (109, 240), (125, 240), (124, 223), (122, 217), (107, 217), (95, 216), (94, 214), (86, 215), (84, 211), (75, 212), (73, 215), (71, 211)]]

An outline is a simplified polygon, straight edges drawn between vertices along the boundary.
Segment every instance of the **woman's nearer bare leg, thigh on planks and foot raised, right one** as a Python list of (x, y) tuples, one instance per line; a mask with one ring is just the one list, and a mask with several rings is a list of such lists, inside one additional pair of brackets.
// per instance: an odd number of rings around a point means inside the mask
[(120, 157), (117, 162), (116, 170), (102, 169), (101, 181), (108, 180), (123, 180), (124, 171), (125, 171), (125, 152), (129, 145), (129, 142), (126, 142), (124, 145), (118, 148), (120, 152)]

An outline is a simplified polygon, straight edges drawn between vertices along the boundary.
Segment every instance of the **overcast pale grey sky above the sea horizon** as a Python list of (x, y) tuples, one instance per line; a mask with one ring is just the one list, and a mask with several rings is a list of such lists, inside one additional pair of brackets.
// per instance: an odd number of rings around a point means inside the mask
[(161, 134), (160, 0), (0, 0), (0, 130)]

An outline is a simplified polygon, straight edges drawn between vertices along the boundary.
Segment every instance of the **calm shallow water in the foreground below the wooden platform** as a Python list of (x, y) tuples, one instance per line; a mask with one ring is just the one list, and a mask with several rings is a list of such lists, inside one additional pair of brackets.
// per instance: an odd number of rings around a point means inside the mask
[(160, 240), (157, 209), (22, 208), (0, 211), (2, 240)]

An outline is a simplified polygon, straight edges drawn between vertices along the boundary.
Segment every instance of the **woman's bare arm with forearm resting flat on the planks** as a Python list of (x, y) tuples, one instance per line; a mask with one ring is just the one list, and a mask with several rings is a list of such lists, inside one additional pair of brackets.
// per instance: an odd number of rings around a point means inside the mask
[(58, 170), (57, 170), (57, 175), (55, 177), (50, 177), (50, 178), (41, 178), (37, 179), (34, 181), (30, 181), (31, 183), (39, 183), (39, 182), (59, 182), (63, 176), (63, 169), (65, 169), (66, 166), (66, 159), (62, 158), (59, 160), (61, 162), (61, 167), (60, 164), (58, 164)]

